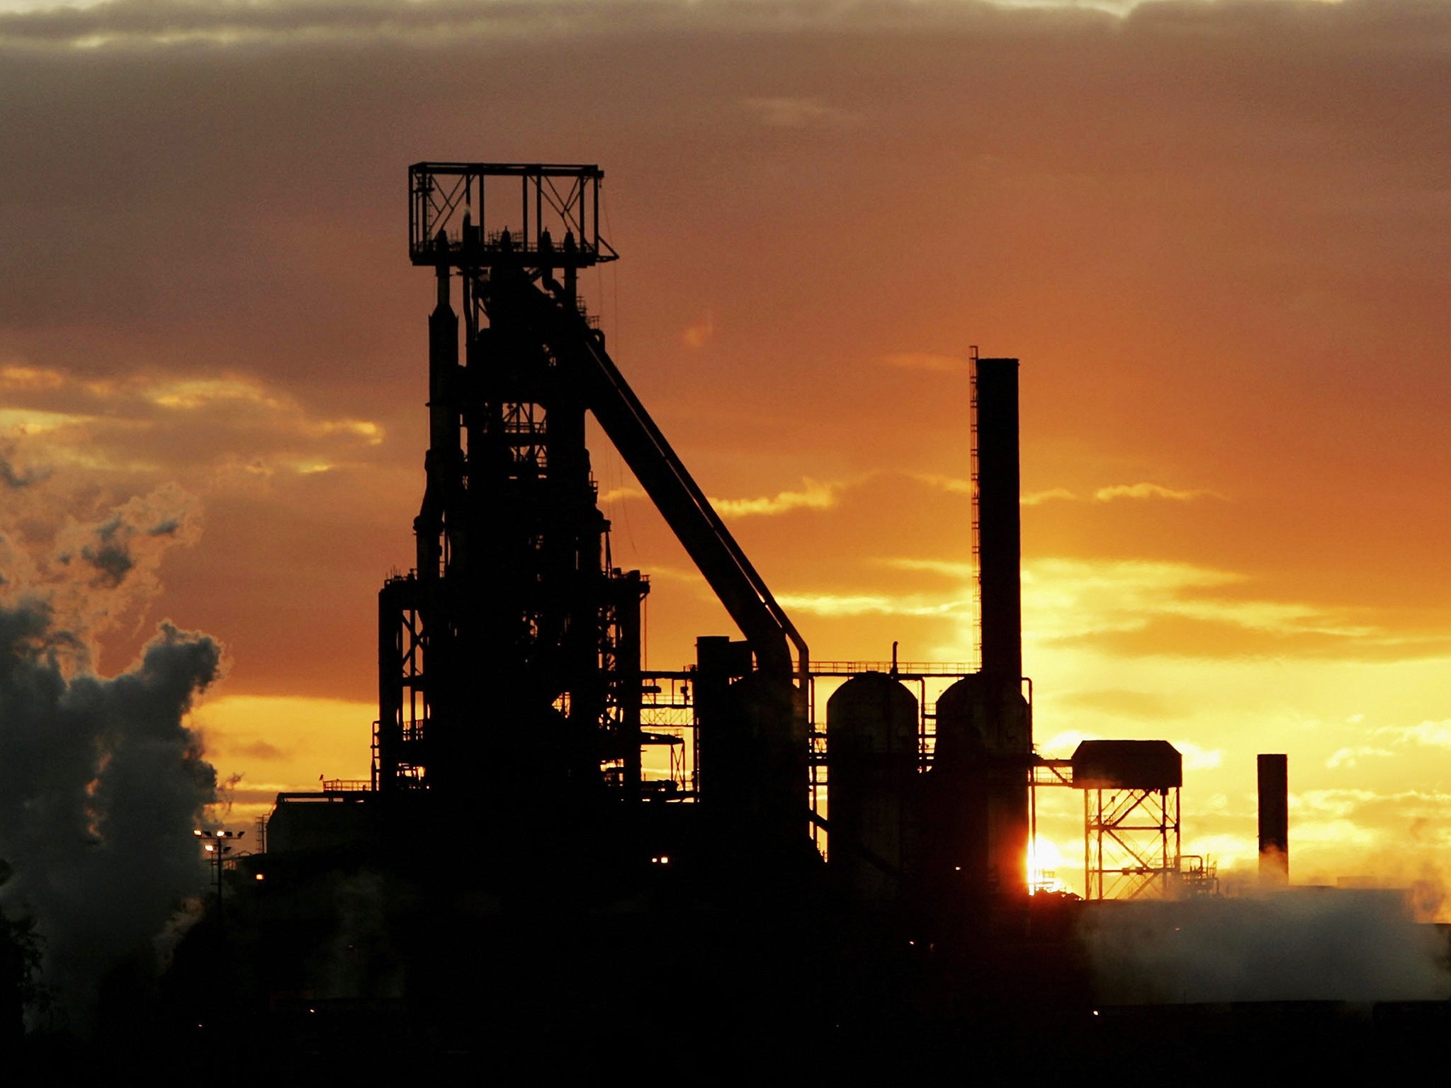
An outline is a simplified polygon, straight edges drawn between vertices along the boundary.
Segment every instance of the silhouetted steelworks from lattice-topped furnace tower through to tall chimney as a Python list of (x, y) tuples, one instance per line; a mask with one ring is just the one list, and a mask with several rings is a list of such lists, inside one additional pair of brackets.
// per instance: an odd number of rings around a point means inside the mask
[[(340, 821), (395, 838), (467, 821), (501, 889), (562, 850), (583, 852), (602, 886), (649, 859), (805, 872), (826, 854), (862, 905), (1023, 899), (1035, 757), (1017, 360), (975, 360), (972, 383), (981, 667), (814, 669), (583, 309), (580, 270), (615, 258), (601, 177), (411, 168), (409, 254), (437, 284), (429, 448), (415, 566), (379, 593), (373, 779), (281, 796), (273, 849), (337, 841)], [(650, 582), (612, 564), (586, 413), (741, 635), (702, 634), (682, 670), (641, 669)], [(823, 677), (844, 683), (818, 722)], [(927, 677), (932, 705), (905, 686)], [(647, 776), (650, 746), (689, 746), (689, 778)]]

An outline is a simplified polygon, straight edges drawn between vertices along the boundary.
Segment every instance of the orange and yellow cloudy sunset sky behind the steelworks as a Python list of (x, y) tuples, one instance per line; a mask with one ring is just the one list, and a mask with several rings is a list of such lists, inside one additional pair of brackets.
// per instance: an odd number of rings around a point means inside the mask
[[(563, 161), (615, 361), (814, 657), (971, 656), (966, 358), (1016, 355), (1040, 750), (1174, 741), (1223, 869), (1257, 751), (1297, 882), (1448, 857), (1451, 4), (0, 0), (0, 592), (102, 672), (218, 638), (234, 820), (367, 775), (406, 167)], [(593, 463), (679, 667), (726, 614)]]

